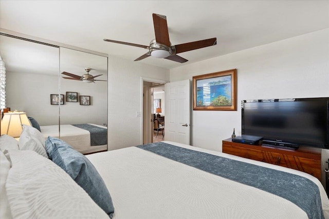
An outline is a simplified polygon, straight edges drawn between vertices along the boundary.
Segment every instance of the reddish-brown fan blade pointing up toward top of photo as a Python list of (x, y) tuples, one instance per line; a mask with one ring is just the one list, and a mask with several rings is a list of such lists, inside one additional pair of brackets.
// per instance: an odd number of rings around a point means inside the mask
[(165, 15), (152, 14), (155, 32), (155, 41), (157, 43), (170, 46), (167, 18)]

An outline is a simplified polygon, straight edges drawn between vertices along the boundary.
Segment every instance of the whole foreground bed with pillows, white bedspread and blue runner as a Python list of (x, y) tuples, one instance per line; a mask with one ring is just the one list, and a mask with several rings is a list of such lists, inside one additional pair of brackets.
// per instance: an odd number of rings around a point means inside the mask
[(0, 137), (13, 218), (329, 218), (322, 184), (297, 170), (168, 141), (82, 155), (22, 135), (19, 149)]

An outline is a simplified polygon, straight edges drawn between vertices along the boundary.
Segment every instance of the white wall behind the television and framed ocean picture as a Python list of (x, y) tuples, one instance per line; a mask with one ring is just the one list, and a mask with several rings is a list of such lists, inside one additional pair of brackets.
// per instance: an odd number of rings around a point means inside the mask
[[(220, 45), (218, 41), (218, 49)], [(238, 110), (192, 110), (191, 144), (222, 151), (222, 140), (233, 128), (241, 135), (243, 99), (329, 96), (328, 60), (329, 29), (325, 29), (171, 69), (171, 82), (237, 69)]]

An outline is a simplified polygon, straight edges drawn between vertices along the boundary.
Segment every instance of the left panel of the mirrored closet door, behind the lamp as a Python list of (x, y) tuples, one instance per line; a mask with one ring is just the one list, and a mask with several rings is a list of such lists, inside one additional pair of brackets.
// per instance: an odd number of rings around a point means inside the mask
[(6, 107), (26, 112), (40, 126), (59, 125), (59, 107), (50, 105), (50, 94), (59, 92), (59, 48), (0, 35), (0, 54)]

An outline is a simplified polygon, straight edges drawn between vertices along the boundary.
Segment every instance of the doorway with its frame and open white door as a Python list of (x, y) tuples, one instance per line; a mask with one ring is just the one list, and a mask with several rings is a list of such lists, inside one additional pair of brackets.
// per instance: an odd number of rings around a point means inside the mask
[(163, 103), (167, 105), (165, 107), (167, 113), (164, 130), (167, 134), (165, 133), (163, 140), (190, 145), (191, 82), (189, 79), (167, 83), (161, 80), (141, 77), (141, 142), (142, 144), (150, 144), (153, 141), (154, 113), (152, 113), (153, 93), (151, 88), (161, 85), (165, 85), (165, 102)]

